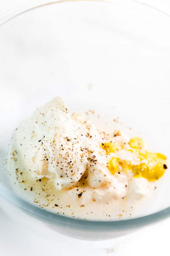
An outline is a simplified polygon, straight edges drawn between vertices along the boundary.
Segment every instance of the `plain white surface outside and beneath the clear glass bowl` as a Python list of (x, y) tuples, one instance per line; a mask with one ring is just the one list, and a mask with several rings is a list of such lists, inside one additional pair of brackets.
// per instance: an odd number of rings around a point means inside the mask
[[(0, 14), (25, 0), (0, 0)], [(169, 0), (143, 0), (170, 14)], [(168, 33), (168, 31), (167, 31)], [(4, 203), (0, 198), (1, 204)], [(10, 205), (6, 205), (10, 208)], [(108, 241), (81, 241), (54, 232), (54, 239), (20, 226), (18, 220), (2, 211), (0, 205), (0, 255), (170, 255), (170, 219), (151, 225), (137, 232)]]

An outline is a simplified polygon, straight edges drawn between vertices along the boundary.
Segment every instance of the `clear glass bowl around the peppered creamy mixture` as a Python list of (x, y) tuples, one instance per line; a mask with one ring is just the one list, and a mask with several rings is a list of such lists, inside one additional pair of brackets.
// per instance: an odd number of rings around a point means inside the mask
[(123, 0), (31, 1), (0, 16), (0, 195), (17, 207), (16, 216), (26, 211), (58, 232), (89, 240), (122, 236), (170, 216), (169, 171), (145, 214), (83, 221), (15, 195), (7, 160), (16, 127), (59, 95), (71, 112), (93, 108), (106, 120), (119, 116), (142, 132), (150, 150), (169, 157), (169, 22), (169, 15), (153, 7)]

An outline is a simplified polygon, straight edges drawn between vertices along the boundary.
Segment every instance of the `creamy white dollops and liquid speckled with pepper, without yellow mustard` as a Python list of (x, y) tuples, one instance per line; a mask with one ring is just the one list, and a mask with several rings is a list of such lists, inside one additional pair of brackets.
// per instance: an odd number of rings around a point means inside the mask
[[(106, 154), (101, 147), (106, 141), (124, 149)], [(107, 168), (112, 157), (140, 164), (139, 157), (127, 151), (128, 142), (122, 132), (106, 134), (83, 114), (70, 115), (62, 98), (54, 98), (14, 134), (10, 167), (14, 189), (58, 214), (96, 220), (131, 217), (135, 205), (153, 193), (155, 185), (120, 169), (113, 175)]]

